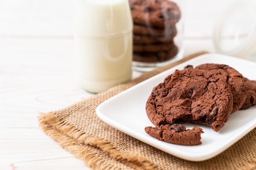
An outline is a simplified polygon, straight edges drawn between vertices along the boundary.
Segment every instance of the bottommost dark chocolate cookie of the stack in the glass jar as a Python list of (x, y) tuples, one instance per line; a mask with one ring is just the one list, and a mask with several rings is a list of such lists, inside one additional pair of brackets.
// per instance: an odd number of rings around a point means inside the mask
[(161, 62), (167, 61), (173, 57), (175, 57), (178, 53), (178, 48), (173, 46), (168, 51), (159, 51), (159, 52), (133, 52), (133, 61), (139, 62)]

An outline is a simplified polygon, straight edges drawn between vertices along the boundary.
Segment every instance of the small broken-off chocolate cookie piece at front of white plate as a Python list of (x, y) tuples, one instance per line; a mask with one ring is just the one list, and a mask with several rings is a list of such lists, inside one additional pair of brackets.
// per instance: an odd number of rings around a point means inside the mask
[(201, 128), (195, 126), (193, 129), (187, 129), (181, 124), (161, 125), (160, 127), (148, 126), (145, 128), (146, 133), (150, 136), (173, 144), (182, 145), (198, 145), (202, 144), (201, 133), (204, 133)]

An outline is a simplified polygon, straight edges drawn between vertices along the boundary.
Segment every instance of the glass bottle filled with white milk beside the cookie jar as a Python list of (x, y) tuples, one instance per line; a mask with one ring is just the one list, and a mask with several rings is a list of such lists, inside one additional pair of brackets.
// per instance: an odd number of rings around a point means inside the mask
[(131, 79), (132, 29), (128, 0), (77, 0), (74, 49), (83, 89), (99, 93)]

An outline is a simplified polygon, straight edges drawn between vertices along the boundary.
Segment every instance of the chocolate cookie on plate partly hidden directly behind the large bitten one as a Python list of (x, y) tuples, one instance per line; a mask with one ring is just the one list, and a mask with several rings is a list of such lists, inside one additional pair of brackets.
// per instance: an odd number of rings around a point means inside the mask
[(242, 74), (240, 74), (234, 68), (231, 68), (225, 64), (213, 64), (207, 63), (198, 65), (195, 69), (202, 69), (216, 74), (223, 80), (227, 81), (230, 85), (231, 91), (233, 93), (233, 110), (232, 113), (239, 110), (246, 98), (245, 83)]

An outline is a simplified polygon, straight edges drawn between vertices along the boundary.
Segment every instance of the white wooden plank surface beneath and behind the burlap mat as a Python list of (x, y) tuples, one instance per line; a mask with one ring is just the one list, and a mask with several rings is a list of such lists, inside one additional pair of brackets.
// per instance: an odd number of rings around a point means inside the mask
[[(185, 55), (215, 52), (213, 21), (224, 2), (187, 3)], [(74, 78), (73, 10), (73, 0), (0, 0), (0, 170), (90, 169), (45, 135), (37, 120), (40, 112), (93, 95)]]

